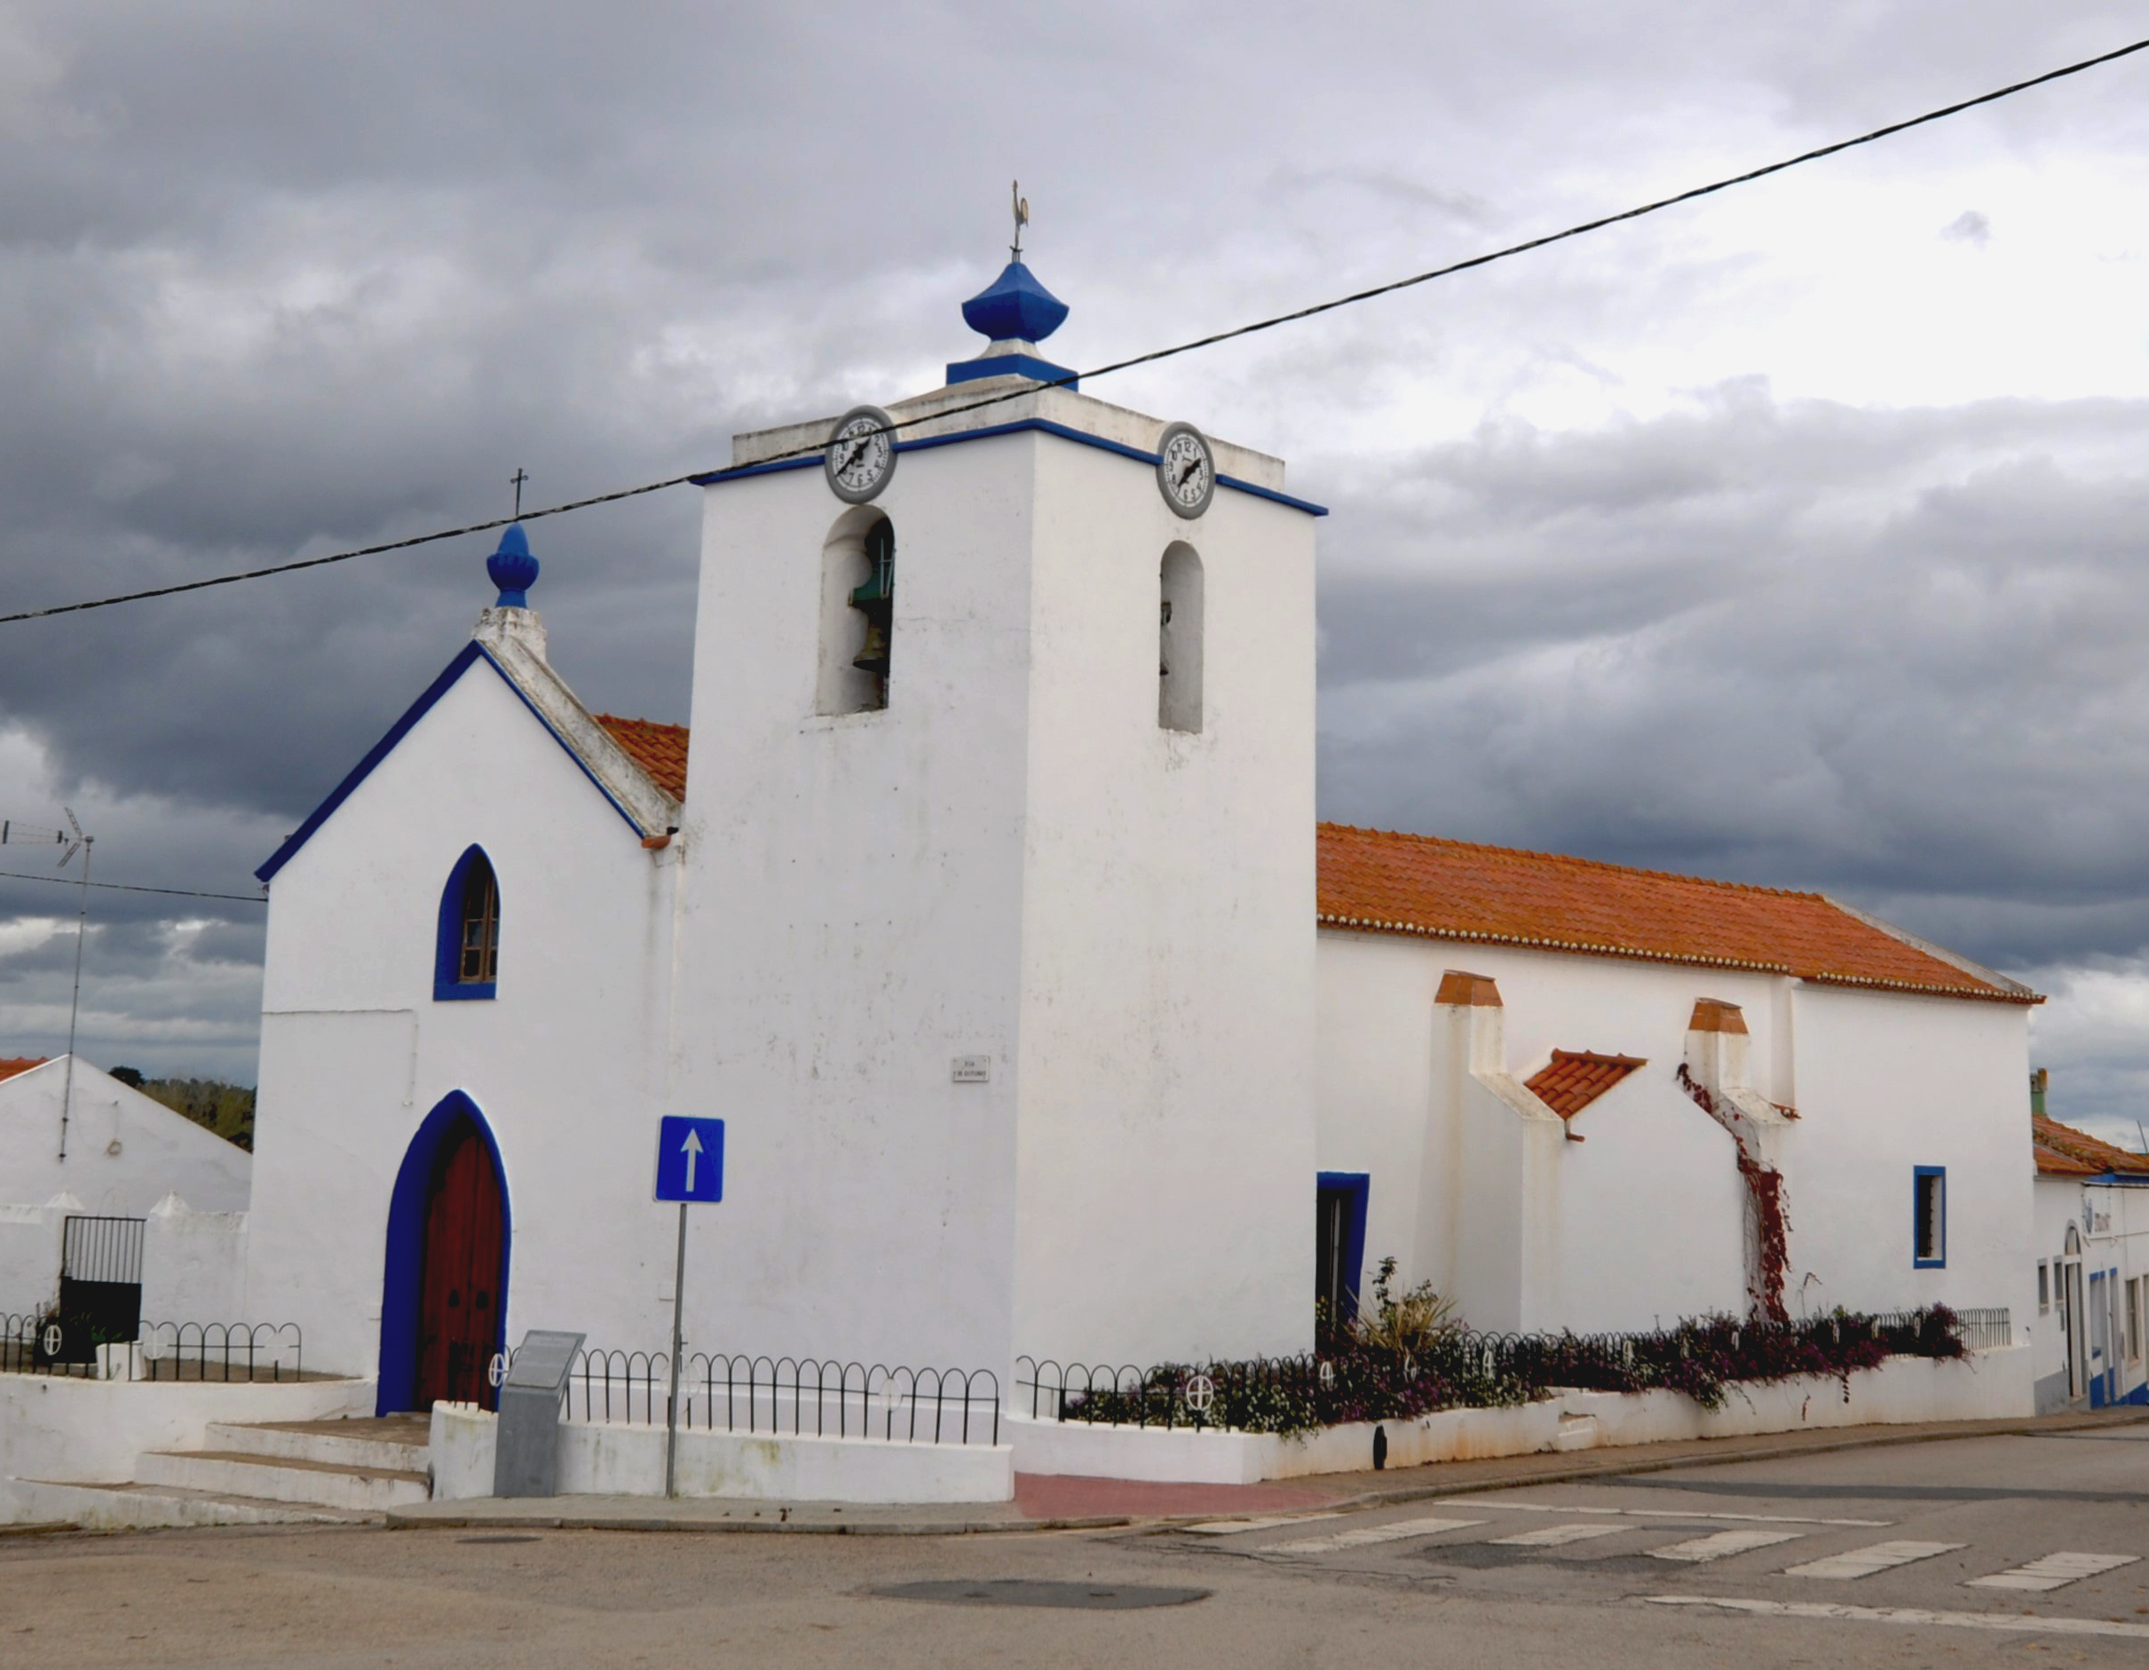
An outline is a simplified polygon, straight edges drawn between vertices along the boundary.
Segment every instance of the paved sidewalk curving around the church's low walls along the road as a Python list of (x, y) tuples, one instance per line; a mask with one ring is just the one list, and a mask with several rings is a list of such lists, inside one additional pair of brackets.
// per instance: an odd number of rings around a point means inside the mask
[(542, 1496), (419, 1502), (387, 1515), (393, 1530), (756, 1530), (836, 1537), (965, 1537), (993, 1530), (1100, 1530), (1111, 1526), (1227, 1520), (1246, 1513), (1317, 1513), (1339, 1507), (1416, 1502), (1513, 1485), (1560, 1485), (1670, 1468), (1769, 1462), (1779, 1455), (1934, 1444), (1949, 1438), (2033, 1438), (2149, 1421), (2121, 1406), (2093, 1414), (2029, 1421), (1943, 1421), (1902, 1427), (1833, 1427), (1766, 1438), (1698, 1438), (1674, 1444), (1509, 1455), (1491, 1462), (1438, 1462), (1395, 1472), (1328, 1472), (1266, 1485), (1156, 1485), (1133, 1479), (1077, 1479), (1021, 1472), (1012, 1502), (918, 1507), (840, 1507), (836, 1502), (741, 1502), (658, 1496)]

